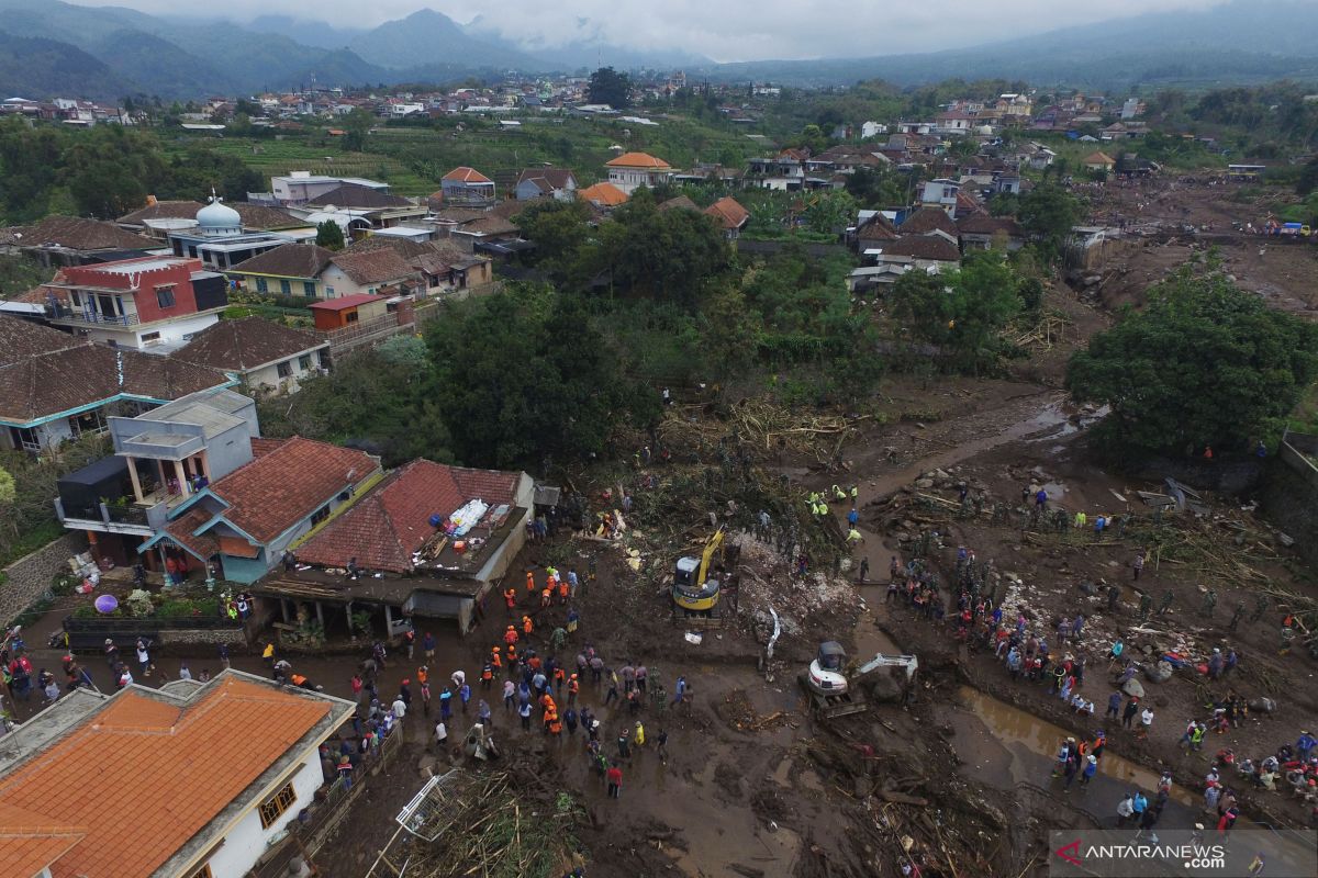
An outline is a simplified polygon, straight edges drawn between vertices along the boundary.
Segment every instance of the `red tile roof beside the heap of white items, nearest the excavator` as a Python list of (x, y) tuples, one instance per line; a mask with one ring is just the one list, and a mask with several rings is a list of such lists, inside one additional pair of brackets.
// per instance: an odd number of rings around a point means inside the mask
[(326, 567), (349, 558), (366, 570), (407, 573), (411, 553), (435, 533), (430, 516), (448, 516), (480, 498), (497, 507), (517, 499), (518, 473), (468, 470), (418, 459), (394, 471), (380, 487), (298, 548), (298, 559)]

